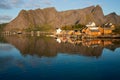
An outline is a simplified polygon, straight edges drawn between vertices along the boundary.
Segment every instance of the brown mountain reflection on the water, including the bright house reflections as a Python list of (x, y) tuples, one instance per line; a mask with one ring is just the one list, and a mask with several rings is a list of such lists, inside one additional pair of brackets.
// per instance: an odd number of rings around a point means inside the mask
[(22, 55), (37, 55), (39, 57), (54, 57), (58, 53), (76, 54), (91, 57), (102, 55), (103, 48), (115, 50), (120, 46), (119, 40), (110, 39), (73, 39), (66, 37), (30, 37), (6, 36), (7, 43), (15, 46)]

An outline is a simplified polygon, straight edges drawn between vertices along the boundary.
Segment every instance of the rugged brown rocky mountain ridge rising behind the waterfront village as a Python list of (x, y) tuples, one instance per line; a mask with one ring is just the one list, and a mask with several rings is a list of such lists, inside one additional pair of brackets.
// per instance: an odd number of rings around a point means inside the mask
[(106, 22), (119, 25), (120, 16), (115, 14), (104, 16), (102, 8), (99, 5), (62, 12), (57, 11), (54, 7), (28, 11), (21, 10), (19, 15), (12, 20), (4, 30), (16, 31), (28, 28), (54, 30), (57, 27), (74, 25), (76, 23), (86, 25), (93, 21), (97, 25), (102, 25)]

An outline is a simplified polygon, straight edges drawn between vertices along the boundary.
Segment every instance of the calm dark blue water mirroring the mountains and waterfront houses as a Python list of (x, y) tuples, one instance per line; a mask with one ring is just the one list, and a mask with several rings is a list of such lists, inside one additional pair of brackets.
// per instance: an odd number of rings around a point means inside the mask
[(0, 80), (120, 80), (117, 39), (0, 38)]

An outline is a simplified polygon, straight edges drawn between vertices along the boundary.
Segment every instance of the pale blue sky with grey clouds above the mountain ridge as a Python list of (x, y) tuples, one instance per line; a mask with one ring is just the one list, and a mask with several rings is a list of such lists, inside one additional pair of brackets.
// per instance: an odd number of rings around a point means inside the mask
[(120, 0), (0, 0), (0, 23), (12, 21), (24, 10), (55, 7), (57, 11), (83, 9), (100, 5), (104, 15), (115, 12), (120, 15)]

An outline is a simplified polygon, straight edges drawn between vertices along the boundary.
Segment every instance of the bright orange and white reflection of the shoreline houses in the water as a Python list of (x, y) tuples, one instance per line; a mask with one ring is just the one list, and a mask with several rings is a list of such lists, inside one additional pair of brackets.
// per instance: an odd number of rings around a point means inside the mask
[(56, 38), (58, 43), (71, 43), (73, 45), (82, 44), (83, 46), (87, 47), (105, 47), (109, 45), (113, 45), (113, 41), (111, 39), (77, 39), (77, 38), (70, 38), (70, 37), (58, 37)]

